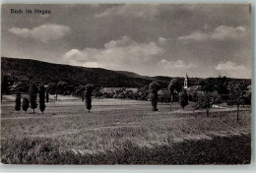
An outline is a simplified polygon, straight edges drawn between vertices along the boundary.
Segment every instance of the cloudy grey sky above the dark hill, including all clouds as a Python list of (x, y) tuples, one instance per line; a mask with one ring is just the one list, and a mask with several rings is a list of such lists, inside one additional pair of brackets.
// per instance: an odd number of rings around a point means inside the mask
[(248, 4), (2, 5), (1, 21), (5, 57), (152, 77), (251, 79)]

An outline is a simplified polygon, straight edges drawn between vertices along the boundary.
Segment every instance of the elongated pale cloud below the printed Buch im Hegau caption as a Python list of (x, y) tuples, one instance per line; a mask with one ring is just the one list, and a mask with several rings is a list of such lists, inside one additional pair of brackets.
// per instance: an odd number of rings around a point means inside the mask
[(56, 24), (46, 24), (38, 26), (32, 29), (20, 29), (12, 28), (9, 31), (19, 37), (33, 38), (42, 42), (49, 40), (60, 39), (70, 32), (70, 28), (67, 26), (61, 26)]

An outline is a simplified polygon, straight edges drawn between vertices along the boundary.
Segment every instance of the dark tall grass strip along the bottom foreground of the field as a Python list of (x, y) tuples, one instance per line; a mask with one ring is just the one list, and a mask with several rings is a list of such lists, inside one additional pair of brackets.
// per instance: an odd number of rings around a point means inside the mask
[(4, 164), (249, 164), (250, 135), (214, 137), (155, 147), (126, 141), (103, 152), (67, 150), (54, 140), (37, 138), (2, 141)]

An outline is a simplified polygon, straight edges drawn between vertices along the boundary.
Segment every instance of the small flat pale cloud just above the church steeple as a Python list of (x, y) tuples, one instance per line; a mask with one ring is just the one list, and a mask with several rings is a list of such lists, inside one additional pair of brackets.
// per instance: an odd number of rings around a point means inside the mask
[(167, 61), (165, 59), (160, 60), (160, 66), (165, 69), (190, 69), (197, 67), (194, 63), (185, 63), (183, 60)]

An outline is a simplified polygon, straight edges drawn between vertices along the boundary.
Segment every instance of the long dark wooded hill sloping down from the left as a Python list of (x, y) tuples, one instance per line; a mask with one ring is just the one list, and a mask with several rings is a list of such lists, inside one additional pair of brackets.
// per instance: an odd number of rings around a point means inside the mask
[(167, 87), (172, 79), (7, 57), (1, 58), (1, 66), (2, 76), (11, 74), (17, 82), (28, 82), (32, 78), (36, 84), (43, 85), (62, 81), (73, 86), (94, 84), (96, 87), (145, 87), (156, 81), (161, 87)]

